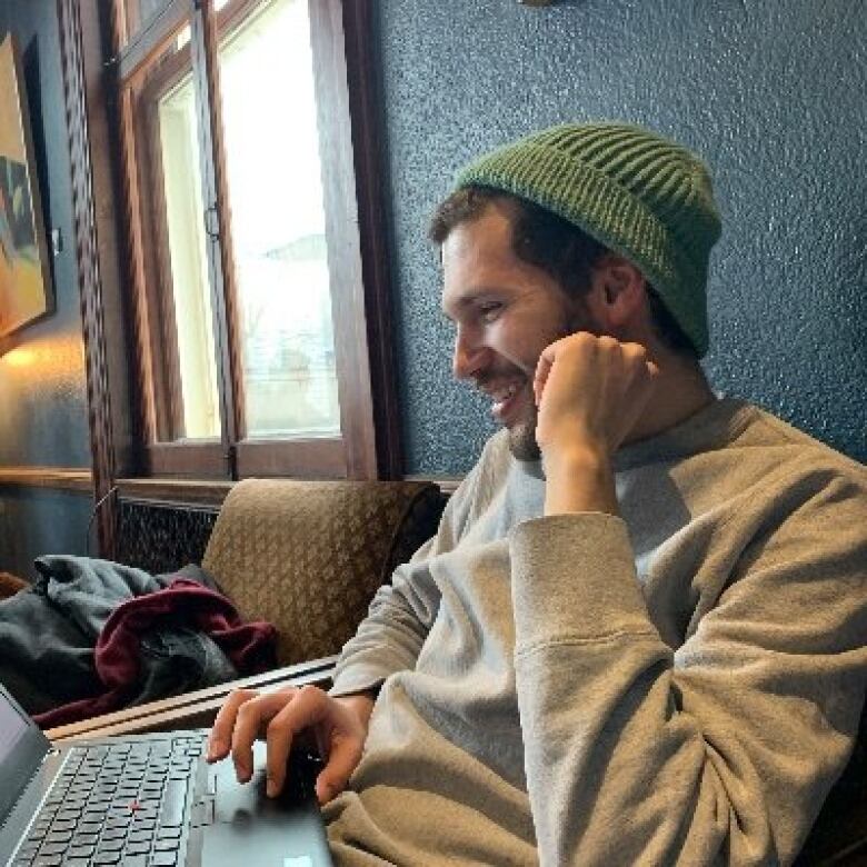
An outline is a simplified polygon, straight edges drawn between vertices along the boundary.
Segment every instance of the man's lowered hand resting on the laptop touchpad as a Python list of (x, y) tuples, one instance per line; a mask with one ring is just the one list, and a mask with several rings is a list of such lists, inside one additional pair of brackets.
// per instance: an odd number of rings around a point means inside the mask
[(226, 699), (208, 738), (208, 761), (231, 751), (240, 781), (252, 774), (252, 744), (268, 745), (268, 795), (280, 794), (292, 744), (300, 736), (319, 750), (325, 767), (316, 795), (326, 804), (339, 795), (361, 760), (373, 698), (367, 694), (333, 698), (318, 687), (286, 687), (273, 692), (236, 689)]

